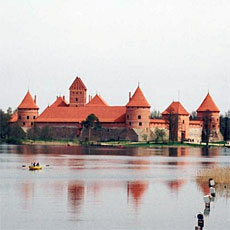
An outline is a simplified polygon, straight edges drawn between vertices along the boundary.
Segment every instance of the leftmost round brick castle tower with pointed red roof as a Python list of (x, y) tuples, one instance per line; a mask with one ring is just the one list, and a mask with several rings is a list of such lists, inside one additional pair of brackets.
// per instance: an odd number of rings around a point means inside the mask
[(32, 98), (28, 91), (18, 106), (18, 124), (22, 128), (31, 128), (34, 125), (35, 119), (38, 117), (39, 107), (36, 104), (36, 96)]

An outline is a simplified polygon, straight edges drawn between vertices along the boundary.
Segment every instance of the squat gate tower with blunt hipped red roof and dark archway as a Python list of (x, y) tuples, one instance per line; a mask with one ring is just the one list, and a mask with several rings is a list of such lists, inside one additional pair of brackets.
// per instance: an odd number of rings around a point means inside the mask
[(184, 141), (189, 137), (189, 113), (179, 101), (172, 102), (162, 113), (167, 120), (169, 139), (171, 141)]

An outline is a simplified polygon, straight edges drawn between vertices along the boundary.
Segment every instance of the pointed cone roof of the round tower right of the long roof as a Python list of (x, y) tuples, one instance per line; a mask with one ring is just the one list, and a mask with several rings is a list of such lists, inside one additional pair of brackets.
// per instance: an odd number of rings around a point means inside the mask
[(146, 107), (146, 108), (151, 107), (139, 86), (137, 87), (135, 93), (133, 94), (133, 96), (131, 97), (131, 99), (129, 100), (126, 106), (127, 107)]

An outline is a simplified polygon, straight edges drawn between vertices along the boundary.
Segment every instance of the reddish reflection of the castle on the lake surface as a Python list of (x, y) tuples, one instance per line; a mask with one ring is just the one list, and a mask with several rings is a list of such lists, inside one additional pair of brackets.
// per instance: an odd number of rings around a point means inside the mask
[[(10, 150), (10, 149), (9, 149)], [(212, 161), (211, 159), (219, 156), (220, 149), (219, 148), (164, 148), (163, 151), (160, 149), (161, 154), (167, 158), (165, 161), (160, 161), (158, 158), (157, 148), (155, 149), (154, 155), (151, 148), (130, 148), (130, 149), (115, 149), (115, 148), (84, 148), (84, 147), (49, 147), (40, 146), (40, 147), (28, 147), (28, 146), (18, 146), (17, 152), (22, 153), (21, 157), (25, 162), (33, 162), (38, 156), (41, 159), (42, 154), (50, 154), (51, 157), (51, 168), (49, 170), (52, 171), (52, 166), (54, 169), (61, 165), (65, 165), (70, 171), (74, 172), (78, 170), (81, 173), (86, 172), (89, 169), (103, 169), (104, 164), (101, 162), (107, 161), (106, 156), (108, 155), (116, 155), (116, 156), (124, 156), (124, 151), (126, 151), (126, 156), (137, 156), (133, 158), (127, 158), (125, 170), (130, 170), (129, 175), (132, 175), (131, 180), (119, 179), (119, 180), (110, 180), (108, 178), (99, 178), (96, 180), (89, 180), (87, 178), (79, 179), (61, 179), (55, 178), (54, 180), (50, 179), (48, 183), (43, 183), (42, 186), (36, 184), (36, 181), (28, 180), (21, 185), (20, 191), (23, 193), (24, 197), (24, 208), (27, 208), (32, 202), (31, 199), (36, 196), (36, 191), (44, 190), (44, 193), (47, 191), (50, 193), (51, 197), (66, 197), (67, 207), (73, 213), (80, 213), (82, 207), (85, 206), (86, 202), (94, 202), (100, 204), (103, 202), (104, 197), (109, 194), (110, 190), (113, 192), (119, 191), (124, 195), (124, 199), (127, 200), (128, 205), (132, 205), (138, 210), (142, 202), (145, 199), (146, 194), (150, 188), (150, 184), (166, 186), (172, 194), (177, 194), (183, 186), (186, 185), (190, 181), (190, 178), (186, 178), (183, 176), (183, 173), (186, 170), (190, 170), (193, 168), (194, 164), (199, 164), (199, 168), (205, 167), (214, 167), (217, 163), (216, 161)], [(93, 152), (94, 156), (98, 156), (96, 159), (92, 159), (90, 162), (90, 158), (84, 158), (85, 155), (90, 156)], [(103, 154), (102, 154), (103, 153)], [(65, 154), (79, 156), (76, 158), (65, 158)], [(197, 157), (208, 157), (207, 161), (193, 161), (187, 160), (187, 157), (193, 157), (192, 159), (196, 159)], [(180, 158), (178, 158), (180, 157)], [(110, 163), (109, 167), (105, 170), (118, 170), (120, 159), (114, 158)], [(89, 163), (90, 162), (90, 163)], [(97, 162), (100, 162), (97, 165)], [(114, 162), (116, 164), (114, 164)], [(108, 163), (108, 162), (107, 162)], [(153, 166), (155, 170), (152, 170)], [(56, 167), (56, 168), (55, 168)], [(164, 168), (165, 167), (165, 168)], [(172, 167), (177, 171), (172, 179), (159, 179), (158, 170), (165, 170), (167, 173), (168, 167)], [(196, 166), (197, 167), (197, 166)], [(150, 171), (154, 171), (156, 174), (155, 178), (148, 179), (148, 175)], [(162, 172), (162, 171), (161, 171)], [(198, 184), (198, 188), (203, 192), (204, 195), (208, 194), (209, 188), (207, 184)], [(219, 190), (221, 193), (221, 189)], [(223, 192), (222, 192), (223, 194)], [(226, 195), (226, 194), (225, 194)], [(227, 195), (229, 197), (229, 194)]]

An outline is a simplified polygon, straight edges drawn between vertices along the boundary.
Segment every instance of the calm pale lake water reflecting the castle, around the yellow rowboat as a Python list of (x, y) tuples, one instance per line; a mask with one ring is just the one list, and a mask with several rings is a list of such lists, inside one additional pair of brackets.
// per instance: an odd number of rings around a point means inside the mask
[[(22, 167), (34, 161), (43, 170)], [(195, 229), (208, 193), (197, 172), (229, 165), (230, 149), (0, 145), (0, 228)], [(204, 229), (230, 229), (228, 186)]]

